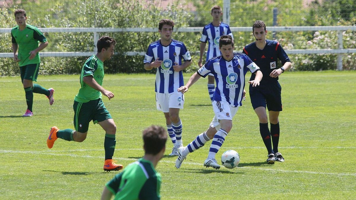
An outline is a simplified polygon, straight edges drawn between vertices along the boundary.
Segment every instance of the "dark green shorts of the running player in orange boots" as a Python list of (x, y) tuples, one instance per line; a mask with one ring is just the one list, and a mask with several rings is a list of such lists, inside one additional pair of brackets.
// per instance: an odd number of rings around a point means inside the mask
[(112, 119), (101, 99), (91, 100), (86, 103), (74, 101), (74, 127), (75, 131), (85, 133), (88, 131), (89, 122), (98, 123), (107, 119)]

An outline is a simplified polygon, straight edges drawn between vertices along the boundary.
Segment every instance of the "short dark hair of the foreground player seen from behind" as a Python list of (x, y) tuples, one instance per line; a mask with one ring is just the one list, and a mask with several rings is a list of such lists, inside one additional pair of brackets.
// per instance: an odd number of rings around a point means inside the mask
[(162, 126), (152, 125), (142, 132), (145, 154), (157, 155), (166, 146), (167, 132)]

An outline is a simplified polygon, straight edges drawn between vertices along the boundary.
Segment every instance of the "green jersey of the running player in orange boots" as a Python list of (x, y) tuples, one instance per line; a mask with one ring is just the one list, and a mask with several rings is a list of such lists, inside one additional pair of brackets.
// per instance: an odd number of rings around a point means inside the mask
[(85, 61), (82, 68), (82, 73), (80, 74), (80, 85), (82, 87), (79, 89), (78, 94), (75, 95), (74, 100), (81, 103), (101, 99), (100, 91), (95, 90), (88, 84), (84, 83), (83, 77), (86, 76), (92, 76), (99, 85), (103, 85), (104, 63), (95, 55), (90, 56), (87, 61)]

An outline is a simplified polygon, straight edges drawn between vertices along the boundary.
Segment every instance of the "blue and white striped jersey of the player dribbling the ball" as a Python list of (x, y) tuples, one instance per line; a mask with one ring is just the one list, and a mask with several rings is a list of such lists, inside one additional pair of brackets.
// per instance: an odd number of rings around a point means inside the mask
[(234, 53), (234, 58), (227, 61), (223, 56), (211, 58), (199, 70), (201, 77), (214, 74), (216, 88), (214, 101), (227, 101), (231, 106), (242, 106), (242, 94), (245, 88), (247, 71), (255, 73), (260, 68), (244, 53)]

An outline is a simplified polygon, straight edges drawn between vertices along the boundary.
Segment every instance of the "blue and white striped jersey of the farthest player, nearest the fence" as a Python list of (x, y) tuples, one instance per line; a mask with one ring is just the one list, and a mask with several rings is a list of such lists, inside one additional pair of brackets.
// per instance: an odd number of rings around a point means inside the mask
[(208, 61), (210, 58), (221, 55), (219, 50), (219, 39), (220, 36), (223, 35), (230, 35), (232, 38), (234, 38), (230, 31), (229, 25), (226, 23), (221, 22), (220, 26), (214, 26), (213, 23), (209, 23), (203, 28), (200, 42), (208, 42), (208, 53), (206, 54), (206, 61)]

